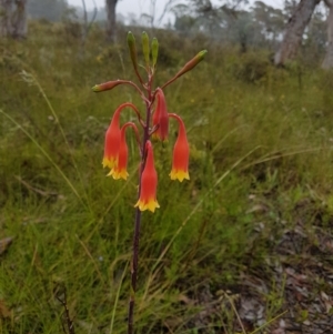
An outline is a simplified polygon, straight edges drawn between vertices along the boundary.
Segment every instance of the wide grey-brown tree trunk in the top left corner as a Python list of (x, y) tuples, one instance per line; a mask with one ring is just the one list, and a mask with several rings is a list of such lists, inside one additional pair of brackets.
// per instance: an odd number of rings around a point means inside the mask
[(0, 37), (26, 38), (27, 0), (0, 0)]

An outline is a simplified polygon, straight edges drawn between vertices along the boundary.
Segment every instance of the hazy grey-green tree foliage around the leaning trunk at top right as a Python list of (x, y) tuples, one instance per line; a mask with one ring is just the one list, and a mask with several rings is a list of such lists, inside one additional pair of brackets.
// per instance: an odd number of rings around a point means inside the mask
[[(268, 1), (211, 1), (192, 0), (191, 4), (173, 7), (174, 30), (189, 38), (203, 33), (223, 47), (238, 45), (241, 52), (248, 49), (275, 51), (284, 34), (285, 23), (300, 1), (283, 1), (278, 7)], [(221, 6), (222, 4), (222, 6)], [(275, 4), (274, 4), (275, 6)], [(316, 6), (311, 22), (304, 32), (303, 52), (312, 62), (323, 57), (326, 37), (327, 10), (323, 1)]]

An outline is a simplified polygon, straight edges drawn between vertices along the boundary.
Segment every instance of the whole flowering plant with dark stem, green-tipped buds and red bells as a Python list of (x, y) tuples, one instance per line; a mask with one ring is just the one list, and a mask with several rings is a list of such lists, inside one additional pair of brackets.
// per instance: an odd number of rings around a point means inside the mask
[[(140, 169), (139, 169), (139, 189), (138, 202), (134, 205), (135, 211), (135, 226), (133, 236), (133, 259), (131, 266), (131, 297), (129, 304), (128, 317), (128, 334), (133, 333), (133, 312), (134, 312), (134, 294), (137, 290), (138, 276), (138, 260), (139, 260), (139, 235), (141, 212), (149, 210), (154, 212), (160, 208), (157, 199), (158, 189), (158, 173), (154, 166), (153, 145), (151, 138), (167, 141), (169, 135), (169, 121), (174, 119), (179, 123), (178, 139), (173, 148), (172, 169), (170, 172), (171, 180), (179, 180), (182, 182), (184, 179), (189, 180), (189, 142), (186, 138), (185, 125), (182, 119), (175, 113), (168, 113), (167, 102), (163, 90), (178, 78), (192, 70), (199, 62), (201, 62), (206, 53), (205, 50), (200, 51), (193, 59), (191, 59), (173, 78), (167, 81), (161, 88), (153, 89), (153, 79), (157, 71), (157, 60), (159, 53), (159, 42), (155, 38), (152, 39), (151, 45), (149, 37), (145, 32), (142, 33), (142, 50), (145, 61), (147, 81), (144, 81), (139, 72), (138, 55), (135, 39), (132, 32), (128, 33), (128, 47), (130, 51), (131, 61), (134, 72), (138, 77), (140, 87), (129, 80), (114, 80), (101, 84), (95, 84), (92, 90), (94, 92), (103, 92), (111, 90), (120, 84), (129, 84), (133, 87), (145, 103), (144, 118), (141, 115), (139, 109), (130, 103), (123, 103), (117, 108), (113, 113), (111, 123), (105, 133), (104, 142), (104, 156), (103, 168), (110, 171), (108, 176), (114, 180), (128, 178), (128, 145), (125, 140), (125, 132), (131, 128), (137, 136), (138, 146), (140, 150)], [(138, 124), (142, 128), (142, 135), (140, 138), (139, 129), (135, 123), (127, 122), (120, 125), (120, 113), (124, 108), (131, 108), (137, 117)]]

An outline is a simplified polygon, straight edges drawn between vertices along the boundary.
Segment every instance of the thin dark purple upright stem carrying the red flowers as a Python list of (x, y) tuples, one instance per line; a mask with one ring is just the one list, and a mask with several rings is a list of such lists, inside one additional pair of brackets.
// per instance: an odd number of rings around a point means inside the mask
[[(148, 82), (148, 99), (145, 101), (145, 126), (143, 128), (143, 140), (142, 140), (142, 149), (141, 149), (141, 166), (139, 172), (139, 190), (138, 190), (138, 200), (140, 199), (141, 192), (141, 176), (144, 170), (145, 164), (145, 143), (149, 140), (149, 131), (150, 131), (150, 117), (151, 117), (151, 83), (152, 78), (149, 79)], [(137, 292), (137, 279), (138, 279), (138, 263), (139, 263), (139, 240), (140, 240), (140, 224), (141, 224), (141, 211), (137, 208), (135, 211), (135, 221), (134, 221), (134, 235), (133, 235), (133, 256), (132, 256), (132, 265), (131, 265), (131, 294), (130, 294), (130, 303), (129, 303), (129, 314), (128, 314), (128, 334), (134, 333), (133, 327), (133, 318), (134, 318), (134, 304), (135, 304), (135, 292)]]

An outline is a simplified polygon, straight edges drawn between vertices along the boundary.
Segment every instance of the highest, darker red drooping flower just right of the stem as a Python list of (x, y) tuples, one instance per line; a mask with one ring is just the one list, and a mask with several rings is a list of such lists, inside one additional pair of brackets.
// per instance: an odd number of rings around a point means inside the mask
[(169, 135), (169, 114), (167, 109), (167, 102), (163, 91), (157, 89), (157, 108), (153, 114), (153, 126), (158, 126), (158, 130), (153, 133), (153, 138), (161, 141), (168, 140)]

